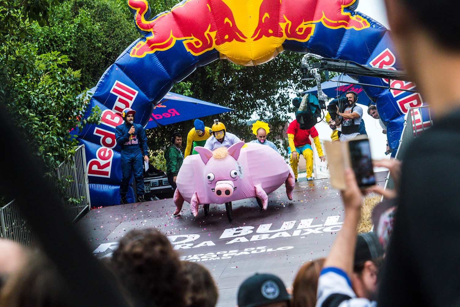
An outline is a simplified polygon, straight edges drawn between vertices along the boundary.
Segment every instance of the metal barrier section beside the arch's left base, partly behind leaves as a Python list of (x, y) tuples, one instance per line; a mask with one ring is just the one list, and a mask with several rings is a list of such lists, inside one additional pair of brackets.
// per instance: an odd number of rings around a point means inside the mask
[(85, 145), (78, 146), (70, 161), (64, 161), (57, 167), (57, 177), (61, 180), (72, 180), (65, 192), (68, 197), (78, 199), (78, 202), (66, 202), (66, 209), (74, 221), (79, 220), (82, 214), (91, 209)]

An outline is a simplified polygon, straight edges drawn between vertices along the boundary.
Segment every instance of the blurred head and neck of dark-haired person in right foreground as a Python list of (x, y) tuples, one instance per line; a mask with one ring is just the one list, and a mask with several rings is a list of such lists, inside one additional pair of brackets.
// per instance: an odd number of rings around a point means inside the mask
[(385, 0), (399, 70), (405, 70), (436, 116), (460, 106), (458, 12), (453, 1)]

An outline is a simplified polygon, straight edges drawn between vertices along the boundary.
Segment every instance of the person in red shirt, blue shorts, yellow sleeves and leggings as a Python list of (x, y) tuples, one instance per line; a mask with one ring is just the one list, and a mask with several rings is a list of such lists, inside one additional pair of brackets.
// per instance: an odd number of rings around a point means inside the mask
[(297, 182), (297, 164), (299, 163), (299, 155), (303, 155), (306, 161), (307, 180), (313, 180), (313, 177), (311, 176), (311, 172), (313, 171), (313, 150), (311, 148), (310, 139), (308, 138), (309, 136), (311, 136), (315, 142), (316, 151), (318, 151), (318, 156), (321, 161), (326, 161), (326, 157), (322, 154), (318, 132), (315, 127), (311, 127), (308, 130), (300, 129), (297, 120), (293, 120), (293, 122), (289, 124), (286, 133), (288, 133), (289, 141), (289, 162), (291, 163), (291, 168), (294, 172), (295, 181)]

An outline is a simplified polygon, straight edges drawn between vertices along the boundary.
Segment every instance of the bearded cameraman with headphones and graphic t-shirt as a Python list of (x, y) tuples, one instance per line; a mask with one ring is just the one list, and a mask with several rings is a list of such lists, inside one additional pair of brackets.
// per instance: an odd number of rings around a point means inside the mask
[[(346, 141), (350, 139), (354, 139), (359, 135), (359, 124), (362, 120), (362, 108), (356, 105), (357, 101), (357, 93), (355, 92), (347, 92), (345, 94), (347, 100), (347, 107), (345, 108), (343, 113), (339, 112), (339, 108), (337, 107), (337, 115), (338, 119), (339, 116), (342, 116), (342, 133), (340, 134), (340, 141)], [(336, 121), (337, 122), (337, 121)], [(339, 122), (337, 122), (339, 123)]]

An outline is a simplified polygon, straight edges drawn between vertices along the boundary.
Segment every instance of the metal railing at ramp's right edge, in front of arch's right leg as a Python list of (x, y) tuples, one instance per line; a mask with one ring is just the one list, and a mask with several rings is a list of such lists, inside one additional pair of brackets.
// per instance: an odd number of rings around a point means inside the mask
[[(424, 118), (424, 110), (428, 112), (428, 118)], [(426, 114), (426, 113), (425, 113)], [(425, 120), (425, 121), (424, 121)], [(424, 133), (426, 129), (433, 126), (433, 120), (431, 118), (430, 106), (425, 105), (416, 108), (409, 108), (407, 112), (406, 120), (404, 121), (403, 133), (399, 139), (399, 146), (396, 151), (395, 159), (402, 158), (408, 145), (420, 134)], [(395, 183), (388, 172), (388, 176), (385, 178), (384, 189), (394, 190)], [(383, 200), (383, 196), (382, 196)]]

